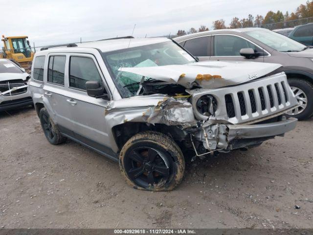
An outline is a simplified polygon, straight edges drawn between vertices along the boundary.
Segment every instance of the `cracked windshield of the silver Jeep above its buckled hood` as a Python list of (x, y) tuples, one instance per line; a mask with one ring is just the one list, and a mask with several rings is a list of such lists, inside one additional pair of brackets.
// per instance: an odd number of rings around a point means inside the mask
[(191, 55), (173, 42), (104, 52), (104, 58), (123, 98), (136, 95), (141, 81), (153, 82), (153, 79), (123, 72), (121, 68), (184, 65), (195, 62)]

